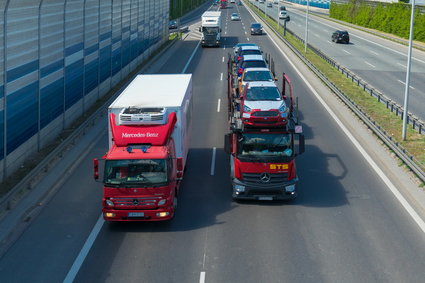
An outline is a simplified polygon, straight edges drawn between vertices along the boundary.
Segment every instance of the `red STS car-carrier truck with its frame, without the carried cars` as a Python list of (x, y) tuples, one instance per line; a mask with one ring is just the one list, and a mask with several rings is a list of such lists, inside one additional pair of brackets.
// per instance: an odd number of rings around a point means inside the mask
[[(228, 77), (229, 125), (224, 150), (230, 155), (230, 177), (234, 200), (287, 200), (296, 197), (298, 175), (295, 158), (304, 152), (302, 127), (289, 78), (283, 75), (282, 99), (286, 102), (285, 124), (247, 125), (238, 113), (243, 107), (234, 80)], [(239, 104), (239, 105), (238, 105)], [(261, 113), (266, 120), (267, 111)], [(272, 112), (272, 111), (271, 111)]]

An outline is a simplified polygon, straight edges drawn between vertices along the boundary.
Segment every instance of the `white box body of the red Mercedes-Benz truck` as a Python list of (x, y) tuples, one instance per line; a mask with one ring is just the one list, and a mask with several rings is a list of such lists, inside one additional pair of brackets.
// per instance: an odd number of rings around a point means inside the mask
[[(167, 124), (168, 115), (175, 112), (177, 122), (171, 137), (176, 158), (183, 158), (183, 168), (189, 151), (192, 124), (192, 75), (138, 75), (108, 108), (108, 117), (115, 115), (116, 125), (151, 126)], [(109, 148), (113, 144), (111, 121), (108, 119)]]

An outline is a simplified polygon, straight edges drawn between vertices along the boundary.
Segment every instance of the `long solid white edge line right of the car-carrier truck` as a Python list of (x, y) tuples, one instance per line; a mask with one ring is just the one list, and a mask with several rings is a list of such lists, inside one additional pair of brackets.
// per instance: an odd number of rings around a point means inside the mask
[(344, 126), (344, 124), (341, 122), (341, 120), (336, 116), (336, 114), (332, 111), (332, 109), (328, 106), (328, 104), (320, 97), (320, 95), (317, 93), (317, 91), (313, 88), (313, 86), (307, 81), (307, 79), (304, 77), (303, 74), (301, 74), (300, 70), (295, 66), (295, 64), (289, 59), (288, 56), (280, 49), (278, 44), (274, 41), (273, 38), (269, 37), (270, 40), (274, 43), (274, 45), (278, 48), (280, 53), (283, 57), (288, 60), (289, 64), (291, 64), (292, 68), (297, 72), (297, 74), (300, 76), (300, 78), (304, 81), (304, 83), (307, 85), (307, 87), (310, 89), (310, 91), (316, 96), (317, 100), (323, 105), (323, 107), (328, 111), (330, 116), (335, 120), (335, 122), (338, 124), (338, 126), (341, 128), (341, 130), (345, 133), (345, 135), (350, 139), (350, 141), (354, 144), (354, 146), (357, 148), (357, 150), (363, 155), (364, 159), (369, 163), (369, 165), (375, 170), (376, 174), (381, 178), (381, 180), (387, 185), (387, 187), (390, 189), (390, 191), (393, 193), (393, 195), (396, 197), (396, 199), (400, 202), (400, 204), (404, 207), (404, 209), (407, 211), (407, 213), (410, 214), (410, 216), (413, 218), (413, 220), (416, 222), (416, 224), (419, 226), (419, 228), (422, 230), (422, 232), (425, 234), (425, 222), (422, 220), (422, 218), (419, 216), (419, 214), (413, 209), (413, 207), (406, 201), (406, 199), (403, 197), (403, 195), (397, 190), (397, 187), (391, 182), (390, 179), (385, 175), (385, 173), (379, 168), (379, 166), (373, 161), (373, 159), (370, 157), (370, 155), (364, 150), (364, 148), (361, 146), (361, 144), (354, 138), (354, 136), (350, 133), (350, 131)]

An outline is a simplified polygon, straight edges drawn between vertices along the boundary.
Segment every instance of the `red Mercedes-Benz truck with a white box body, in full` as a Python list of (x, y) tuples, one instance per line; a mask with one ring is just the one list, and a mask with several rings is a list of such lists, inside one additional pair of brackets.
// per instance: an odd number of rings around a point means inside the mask
[[(160, 221), (174, 216), (189, 151), (192, 75), (138, 75), (108, 108), (103, 217)], [(94, 159), (94, 177), (99, 178)]]

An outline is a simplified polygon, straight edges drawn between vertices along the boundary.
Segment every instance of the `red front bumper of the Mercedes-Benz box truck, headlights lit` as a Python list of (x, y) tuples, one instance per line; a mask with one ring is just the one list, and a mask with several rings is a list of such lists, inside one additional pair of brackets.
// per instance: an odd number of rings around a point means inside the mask
[(104, 207), (103, 219), (106, 221), (164, 221), (174, 216), (174, 208), (161, 207), (152, 210), (121, 210)]

